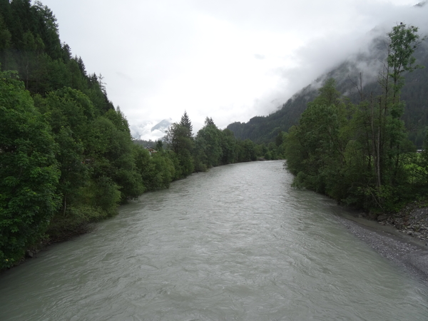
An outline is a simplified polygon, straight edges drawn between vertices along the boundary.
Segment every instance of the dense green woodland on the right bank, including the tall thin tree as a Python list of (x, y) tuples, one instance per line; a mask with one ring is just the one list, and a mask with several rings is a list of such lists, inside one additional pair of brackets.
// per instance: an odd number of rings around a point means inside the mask
[(409, 140), (401, 95), (404, 73), (422, 68), (413, 54), (423, 39), (417, 27), (405, 24), (394, 26), (387, 36), (377, 91), (365, 91), (357, 83), (360, 103), (352, 103), (330, 78), (290, 128), (283, 148), (297, 188), (357, 208), (394, 213), (405, 203), (427, 199), (428, 151), (417, 153)]

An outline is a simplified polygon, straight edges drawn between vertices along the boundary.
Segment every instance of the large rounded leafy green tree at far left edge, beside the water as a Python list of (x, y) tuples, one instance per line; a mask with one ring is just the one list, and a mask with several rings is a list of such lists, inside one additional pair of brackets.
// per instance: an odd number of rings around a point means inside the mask
[(60, 205), (56, 143), (16, 73), (0, 73), (0, 269), (44, 235)]

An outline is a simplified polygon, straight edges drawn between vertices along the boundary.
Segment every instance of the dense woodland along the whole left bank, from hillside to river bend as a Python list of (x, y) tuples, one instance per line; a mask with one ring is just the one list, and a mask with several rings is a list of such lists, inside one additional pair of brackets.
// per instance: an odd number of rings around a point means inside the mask
[(26, 250), (83, 233), (118, 205), (216, 165), (276, 159), (188, 114), (148, 151), (108, 99), (103, 77), (60, 41), (52, 11), (0, 0), (0, 270)]

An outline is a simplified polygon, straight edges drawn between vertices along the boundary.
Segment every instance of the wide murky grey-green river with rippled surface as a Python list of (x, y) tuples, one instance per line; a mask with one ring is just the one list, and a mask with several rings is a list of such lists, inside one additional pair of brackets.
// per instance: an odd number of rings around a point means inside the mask
[(290, 188), (241, 163), (146, 193), (0, 275), (0, 320), (428, 320), (428, 289)]

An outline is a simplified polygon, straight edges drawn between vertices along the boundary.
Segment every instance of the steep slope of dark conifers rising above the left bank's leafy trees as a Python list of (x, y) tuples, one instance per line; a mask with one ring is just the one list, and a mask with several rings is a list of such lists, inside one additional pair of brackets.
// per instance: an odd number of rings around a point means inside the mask
[(36, 1), (0, 0), (1, 70), (18, 71), (32, 95), (74, 88), (91, 99), (96, 111), (113, 109), (102, 76), (86, 73), (81, 57), (60, 41), (52, 11)]

